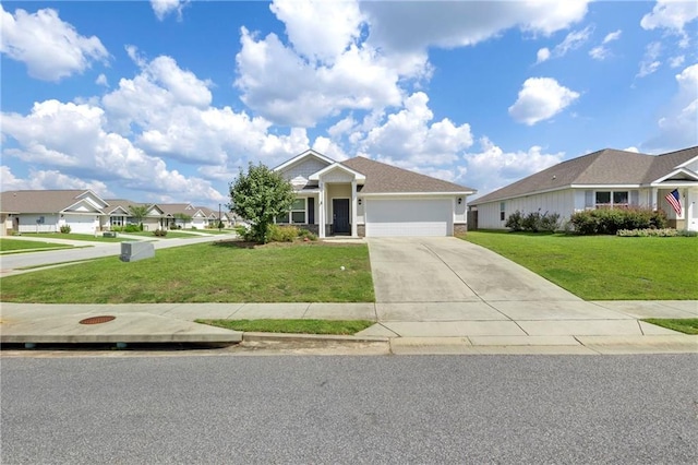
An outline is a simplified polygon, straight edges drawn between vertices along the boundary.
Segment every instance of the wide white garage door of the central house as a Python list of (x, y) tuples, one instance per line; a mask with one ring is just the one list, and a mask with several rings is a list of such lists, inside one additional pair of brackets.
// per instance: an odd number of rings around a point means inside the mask
[(364, 201), (366, 237), (452, 236), (450, 199), (390, 199)]

